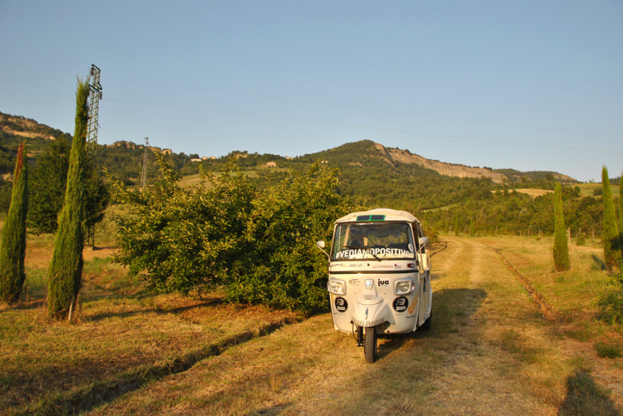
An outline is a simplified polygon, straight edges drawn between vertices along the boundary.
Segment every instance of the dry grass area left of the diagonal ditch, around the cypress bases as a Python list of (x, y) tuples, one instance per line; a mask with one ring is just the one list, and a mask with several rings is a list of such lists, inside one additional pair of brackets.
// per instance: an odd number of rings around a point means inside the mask
[(29, 240), (22, 299), (0, 306), (0, 413), (89, 408), (89, 401), (98, 403), (96, 394), (113, 399), (114, 389), (137, 388), (296, 319), (224, 304), (219, 293), (208, 299), (152, 294), (111, 261), (110, 249), (100, 249), (84, 252), (79, 323), (51, 322), (44, 305), (51, 239)]

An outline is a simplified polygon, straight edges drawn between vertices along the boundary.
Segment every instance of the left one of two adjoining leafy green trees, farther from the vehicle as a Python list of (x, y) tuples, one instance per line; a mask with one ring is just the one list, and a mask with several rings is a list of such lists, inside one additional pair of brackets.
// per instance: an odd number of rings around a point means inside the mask
[[(222, 285), (246, 256), (244, 230), (254, 191), (235, 164), (219, 178), (204, 173), (192, 187), (156, 153), (161, 178), (143, 192), (116, 181), (116, 198), (130, 213), (117, 216), (118, 261), (164, 292), (188, 293)], [(211, 187), (206, 186), (207, 183)], [(209, 188), (209, 189), (208, 189)]]

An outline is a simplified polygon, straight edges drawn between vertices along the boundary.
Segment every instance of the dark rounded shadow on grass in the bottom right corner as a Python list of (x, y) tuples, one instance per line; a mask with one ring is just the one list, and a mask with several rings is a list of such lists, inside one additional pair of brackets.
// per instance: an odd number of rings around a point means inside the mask
[(559, 415), (620, 415), (608, 393), (597, 386), (593, 377), (575, 370), (567, 378), (567, 395), (558, 410)]

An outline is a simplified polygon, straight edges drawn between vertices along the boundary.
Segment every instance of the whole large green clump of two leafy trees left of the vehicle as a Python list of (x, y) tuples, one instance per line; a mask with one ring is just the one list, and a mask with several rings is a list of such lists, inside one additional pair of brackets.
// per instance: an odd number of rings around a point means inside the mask
[(116, 217), (118, 261), (152, 286), (188, 293), (226, 286), (230, 301), (312, 312), (327, 302), (326, 259), (316, 240), (351, 207), (337, 172), (314, 164), (256, 192), (235, 168), (183, 187), (158, 156), (159, 182), (143, 192), (116, 182), (129, 215)]

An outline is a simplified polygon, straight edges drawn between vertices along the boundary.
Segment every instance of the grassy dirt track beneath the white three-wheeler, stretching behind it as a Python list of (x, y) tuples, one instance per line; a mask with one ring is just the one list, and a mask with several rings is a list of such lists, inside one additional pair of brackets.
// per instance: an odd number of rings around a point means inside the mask
[[(433, 330), (379, 339), (365, 364), (329, 314), (288, 325), (95, 413), (554, 415), (581, 378), (622, 377), (590, 345), (560, 335), (496, 252), (448, 238), (433, 257)], [(581, 377), (580, 377), (581, 376)]]

